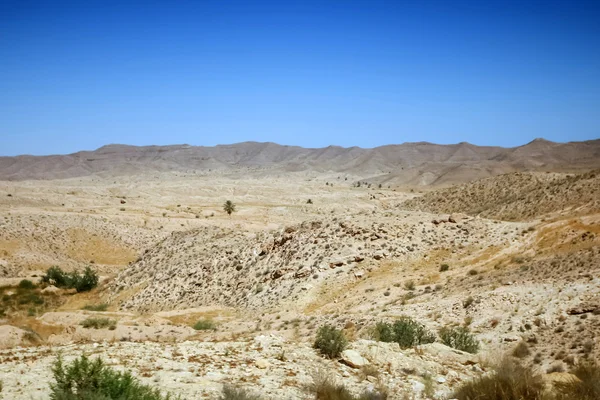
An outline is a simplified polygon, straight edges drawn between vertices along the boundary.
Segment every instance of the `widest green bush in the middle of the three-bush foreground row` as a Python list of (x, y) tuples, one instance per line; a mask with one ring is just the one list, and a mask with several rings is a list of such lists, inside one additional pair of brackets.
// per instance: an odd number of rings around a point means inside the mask
[(435, 335), (425, 325), (410, 317), (400, 317), (393, 324), (379, 322), (375, 326), (375, 339), (382, 342), (396, 342), (401, 348), (435, 342)]

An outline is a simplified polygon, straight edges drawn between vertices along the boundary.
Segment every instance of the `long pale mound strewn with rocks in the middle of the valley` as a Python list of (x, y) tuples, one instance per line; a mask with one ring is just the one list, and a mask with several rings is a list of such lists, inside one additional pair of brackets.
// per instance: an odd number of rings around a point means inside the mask
[(112, 291), (126, 293), (121, 307), (137, 311), (259, 308), (284, 299), (307, 305), (321, 296), (321, 284), (360, 280), (388, 259), (409, 265), (449, 248), (462, 254), (479, 248), (484, 236), (506, 246), (520, 232), (468, 217), (439, 226), (427, 218), (386, 213), (377, 222), (370, 216), (325, 218), (259, 234), (219, 228), (174, 232), (121, 272)]

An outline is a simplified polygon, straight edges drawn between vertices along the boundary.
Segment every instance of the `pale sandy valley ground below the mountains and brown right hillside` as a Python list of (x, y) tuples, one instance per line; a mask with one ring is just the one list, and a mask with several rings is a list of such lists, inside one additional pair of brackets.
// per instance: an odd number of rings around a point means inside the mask
[[(357, 392), (373, 385), (361, 378), (360, 369), (324, 360), (311, 348), (323, 323), (344, 328), (351, 346), (385, 371), (386, 385), (398, 398), (401, 393), (425, 398), (422, 382), (428, 374), (435, 382), (440, 378), (435, 398), (442, 398), (486, 370), (486, 359), (510, 352), (521, 341), (531, 348), (524, 362), (541, 371), (597, 357), (600, 215), (557, 213), (517, 222), (455, 215), (458, 221), (448, 222), (448, 214), (402, 209), (419, 193), (356, 188), (352, 180), (299, 173), (0, 182), (3, 296), (14, 295), (23, 278), (37, 283), (52, 265), (67, 270), (91, 265), (103, 277), (92, 292), (44, 294), (52, 307), (23, 307), (0, 317), (5, 398), (44, 398), (48, 367), (58, 352), (69, 358), (99, 354), (145, 383), (189, 398), (215, 398), (227, 382), (264, 387), (278, 398), (306, 397), (302, 387), (312, 379), (314, 365)], [(226, 200), (237, 205), (231, 216), (222, 209)], [(287, 233), (287, 247), (270, 250), (270, 261), (254, 255), (252, 246), (260, 251), (263, 243), (280, 240), (286, 228), (304, 221), (321, 221), (314, 233), (321, 236), (309, 243), (310, 229), (297, 228)], [(347, 233), (352, 230), (359, 233)], [(210, 235), (203, 238), (202, 232)], [(336, 252), (325, 252), (325, 246), (336, 245)], [(207, 287), (213, 291), (204, 298), (210, 299), (207, 304), (194, 300), (164, 309), (161, 304), (175, 303), (161, 303), (160, 291), (152, 292), (156, 297), (136, 297), (159, 276), (170, 288), (178, 282), (171, 278), (189, 281), (188, 271), (234, 257), (238, 248), (243, 273), (229, 273), (228, 264), (211, 273), (222, 274), (222, 285), (255, 288), (254, 281), (262, 280), (265, 290), (245, 292), (246, 303), (233, 304), (236, 292), (227, 289), (229, 295), (225, 286), (219, 297), (217, 281)], [(337, 265), (339, 255), (345, 258)], [(294, 265), (294, 270), (279, 277), (270, 263)], [(298, 273), (309, 264), (316, 269)], [(447, 271), (442, 264), (448, 264)], [(131, 278), (138, 275), (127, 275), (136, 266), (148, 274), (148, 282), (138, 284)], [(163, 276), (167, 270), (172, 276)], [(237, 282), (228, 282), (233, 276)], [(120, 283), (125, 289), (116, 291)], [(142, 310), (148, 299), (161, 311)], [(100, 303), (107, 303), (107, 311), (82, 310)], [(583, 305), (587, 311), (576, 312)], [(432, 332), (468, 326), (481, 352), (466, 367), (447, 347), (425, 353), (386, 347), (381, 353), (396, 360), (388, 368), (372, 352), (377, 343), (367, 340), (369, 329), (402, 315)], [(80, 323), (89, 317), (114, 320), (115, 329), (84, 328)], [(216, 331), (192, 329), (200, 319), (214, 321)], [(418, 368), (408, 373), (403, 363)]]

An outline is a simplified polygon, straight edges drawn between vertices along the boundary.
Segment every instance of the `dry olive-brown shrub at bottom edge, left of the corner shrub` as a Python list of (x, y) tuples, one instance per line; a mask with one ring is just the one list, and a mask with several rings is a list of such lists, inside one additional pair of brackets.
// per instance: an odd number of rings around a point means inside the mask
[(544, 380), (514, 359), (505, 358), (493, 373), (460, 386), (451, 396), (457, 400), (543, 400)]

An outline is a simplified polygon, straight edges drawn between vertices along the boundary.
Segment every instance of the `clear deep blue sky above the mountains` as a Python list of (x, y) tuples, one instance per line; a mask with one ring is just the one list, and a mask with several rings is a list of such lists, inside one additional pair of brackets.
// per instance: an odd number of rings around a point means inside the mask
[(0, 1), (0, 155), (600, 137), (600, 2)]

